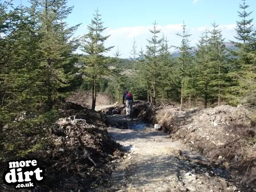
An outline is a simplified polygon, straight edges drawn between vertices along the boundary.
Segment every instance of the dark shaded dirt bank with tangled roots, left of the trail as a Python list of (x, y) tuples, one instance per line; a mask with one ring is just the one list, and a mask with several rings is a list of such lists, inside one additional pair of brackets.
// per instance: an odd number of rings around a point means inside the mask
[[(3, 128), (1, 175), (7, 170), (7, 161), (21, 158), (35, 158), (45, 169), (46, 180), (36, 183), (30, 192), (85, 192), (93, 185), (101, 185), (110, 175), (111, 168), (106, 163), (113, 160), (120, 145), (109, 137), (103, 114), (65, 103), (59, 108), (55, 123), (30, 126), (40, 116), (19, 119), (22, 120)], [(13, 191), (14, 186), (6, 186), (0, 180), (0, 192)]]

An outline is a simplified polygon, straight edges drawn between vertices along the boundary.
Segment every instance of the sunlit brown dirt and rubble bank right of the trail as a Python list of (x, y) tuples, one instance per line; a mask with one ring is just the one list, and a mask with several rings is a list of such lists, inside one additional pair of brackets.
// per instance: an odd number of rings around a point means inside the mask
[[(162, 131), (208, 158), (208, 165), (225, 167), (248, 185), (256, 186), (255, 113), (242, 106), (192, 108), (175, 106), (134, 106), (136, 115), (158, 123)], [(218, 175), (218, 173), (217, 173)]]

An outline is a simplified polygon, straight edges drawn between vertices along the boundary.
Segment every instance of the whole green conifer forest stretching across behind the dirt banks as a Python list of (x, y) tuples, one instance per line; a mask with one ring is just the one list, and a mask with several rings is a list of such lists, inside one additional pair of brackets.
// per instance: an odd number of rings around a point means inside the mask
[[(21, 145), (6, 142), (3, 126), (40, 132), (40, 125), (54, 120), (58, 108), (78, 89), (92, 93), (92, 110), (98, 93), (111, 93), (121, 101), (126, 88), (135, 100), (176, 102), (180, 110), (221, 104), (256, 106), (256, 30), (245, 0), (237, 5), (237, 36), (231, 42), (235, 49), (225, 46), (227, 40), (216, 22), (212, 30), (202, 31), (192, 47), (186, 21), (177, 34), (179, 46), (169, 45), (154, 21), (147, 46), (138, 48), (134, 39), (129, 59), (120, 59), (117, 45), (105, 46), (109, 36), (102, 35), (107, 26), (100, 9), (92, 11), (87, 33), (75, 37), (80, 24), (69, 27), (64, 22), (73, 9), (66, 3), (31, 0), (29, 7), (14, 7), (12, 1), (0, 2), (0, 148), (13, 150)], [(180, 51), (178, 57), (172, 56), (170, 47)], [(75, 53), (78, 49), (83, 54)], [(116, 50), (115, 56), (105, 57), (111, 49)], [(33, 118), (18, 122), (20, 113)], [(14, 152), (24, 155), (29, 150)], [(8, 158), (9, 153), (0, 156)]]

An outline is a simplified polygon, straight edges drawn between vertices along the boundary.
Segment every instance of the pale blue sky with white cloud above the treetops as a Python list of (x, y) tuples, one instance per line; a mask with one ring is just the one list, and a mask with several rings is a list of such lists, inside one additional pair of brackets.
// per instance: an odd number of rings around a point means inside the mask
[[(27, 0), (13, 0), (14, 5), (21, 2), (24, 6), (29, 5)], [(182, 33), (183, 21), (187, 34), (192, 35), (191, 46), (196, 46), (202, 31), (211, 30), (213, 22), (219, 25), (225, 41), (234, 40), (236, 21), (240, 20), (237, 13), (240, 3), (242, 0), (68, 0), (67, 5), (74, 8), (66, 22), (70, 26), (82, 23), (75, 36), (86, 34), (86, 26), (98, 8), (103, 26), (107, 27), (103, 35), (111, 35), (105, 47), (115, 46), (104, 55), (114, 57), (118, 47), (120, 57), (129, 58), (134, 40), (137, 52), (141, 47), (145, 50), (154, 22), (161, 30), (159, 36), (167, 37), (170, 46), (180, 45), (181, 39), (176, 34)], [(256, 0), (246, 0), (246, 4), (248, 12), (256, 9)], [(256, 26), (256, 11), (250, 16)]]

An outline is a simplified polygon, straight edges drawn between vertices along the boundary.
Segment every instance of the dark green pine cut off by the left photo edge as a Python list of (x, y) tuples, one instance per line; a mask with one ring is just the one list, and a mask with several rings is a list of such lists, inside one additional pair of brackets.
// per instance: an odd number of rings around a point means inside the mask
[(21, 97), (17, 93), (20, 95), (25, 88), (22, 85), (24, 76), (19, 72), (24, 66), (21, 62), (23, 55), (19, 40), (22, 40), (21, 35), (24, 35), (26, 26), (22, 9), (14, 8), (11, 1), (0, 2), (0, 124), (10, 120), (8, 115), (19, 112), (24, 106), (19, 106)]

